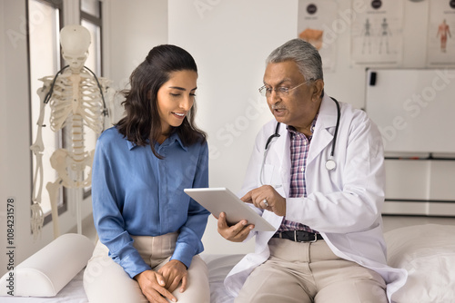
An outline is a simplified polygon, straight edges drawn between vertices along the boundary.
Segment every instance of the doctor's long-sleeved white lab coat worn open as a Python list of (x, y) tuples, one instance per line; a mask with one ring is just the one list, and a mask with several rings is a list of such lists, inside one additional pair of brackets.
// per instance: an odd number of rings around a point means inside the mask
[[(318, 230), (340, 258), (376, 270), (388, 283), (387, 295), (391, 301), (392, 293), (404, 285), (408, 274), (404, 269), (392, 269), (386, 265), (380, 216), (385, 183), (382, 139), (365, 112), (348, 103), (339, 105), (341, 118), (334, 152), (337, 168), (328, 171), (325, 167), (337, 122), (337, 106), (325, 93), (308, 152), (305, 171), (307, 197), (287, 198), (286, 218)], [(259, 174), (265, 145), (276, 125), (275, 120), (268, 122), (258, 133), (239, 196), (262, 185)], [(286, 125), (280, 125), (279, 134), (278, 139), (269, 145), (262, 181), (276, 187), (283, 197), (288, 197), (291, 163)], [(268, 210), (262, 216), (278, 229), (282, 217)], [(237, 296), (250, 272), (268, 259), (268, 240), (274, 233), (250, 232), (248, 239), (256, 235), (255, 252), (245, 256), (225, 280), (232, 295)]]

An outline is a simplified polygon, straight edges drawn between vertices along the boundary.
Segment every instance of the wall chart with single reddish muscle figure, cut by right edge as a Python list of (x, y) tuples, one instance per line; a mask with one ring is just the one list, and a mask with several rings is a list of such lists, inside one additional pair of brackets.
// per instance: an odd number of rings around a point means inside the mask
[(455, 1), (430, 0), (428, 66), (455, 66)]

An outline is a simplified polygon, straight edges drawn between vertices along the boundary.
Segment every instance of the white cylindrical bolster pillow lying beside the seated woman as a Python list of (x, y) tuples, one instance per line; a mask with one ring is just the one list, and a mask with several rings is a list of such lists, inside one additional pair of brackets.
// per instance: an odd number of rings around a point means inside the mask
[[(25, 259), (0, 279), (0, 296), (54, 297), (86, 267), (95, 245), (86, 236), (68, 233)], [(9, 279), (9, 280), (8, 280)], [(9, 292), (9, 293), (8, 293)]]

